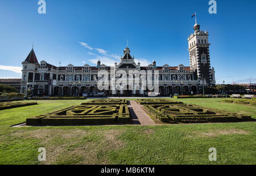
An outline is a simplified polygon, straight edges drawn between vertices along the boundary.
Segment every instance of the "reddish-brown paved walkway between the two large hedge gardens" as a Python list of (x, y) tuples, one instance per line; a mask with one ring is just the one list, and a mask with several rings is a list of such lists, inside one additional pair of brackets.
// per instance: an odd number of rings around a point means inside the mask
[(142, 105), (137, 104), (136, 101), (130, 101), (128, 108), (134, 125), (155, 125), (155, 122), (142, 109)]

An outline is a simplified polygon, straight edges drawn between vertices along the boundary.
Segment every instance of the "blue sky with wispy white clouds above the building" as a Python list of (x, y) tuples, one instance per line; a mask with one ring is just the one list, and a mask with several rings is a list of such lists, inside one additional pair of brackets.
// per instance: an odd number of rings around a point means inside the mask
[(142, 66), (189, 66), (187, 38), (196, 11), (201, 29), (209, 32), (211, 66), (216, 81), (256, 82), (256, 1), (217, 2), (209, 14), (208, 0), (123, 1), (45, 0), (0, 1), (0, 77), (19, 78), (22, 61), (32, 48), (39, 62), (67, 66), (113, 65), (129, 40), (131, 54)]

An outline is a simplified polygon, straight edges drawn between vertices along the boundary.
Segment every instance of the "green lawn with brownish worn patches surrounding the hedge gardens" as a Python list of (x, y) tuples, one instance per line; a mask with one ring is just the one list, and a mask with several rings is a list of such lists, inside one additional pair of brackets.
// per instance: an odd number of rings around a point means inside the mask
[[(174, 99), (176, 100), (176, 99)], [(0, 111), (0, 164), (256, 164), (256, 123), (158, 126), (18, 127), (27, 117), (85, 100), (42, 100)], [(188, 104), (249, 114), (256, 106), (221, 99), (179, 99)], [(46, 161), (38, 161), (38, 148)], [(217, 149), (217, 161), (208, 149)]]

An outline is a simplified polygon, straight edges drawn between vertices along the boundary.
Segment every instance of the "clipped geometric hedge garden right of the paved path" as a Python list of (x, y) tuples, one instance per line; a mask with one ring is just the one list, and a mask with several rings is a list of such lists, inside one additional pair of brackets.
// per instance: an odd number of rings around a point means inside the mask
[(250, 115), (229, 113), (222, 110), (188, 105), (183, 102), (147, 99), (137, 100), (144, 109), (162, 122), (207, 123), (207, 122), (242, 122), (251, 121)]

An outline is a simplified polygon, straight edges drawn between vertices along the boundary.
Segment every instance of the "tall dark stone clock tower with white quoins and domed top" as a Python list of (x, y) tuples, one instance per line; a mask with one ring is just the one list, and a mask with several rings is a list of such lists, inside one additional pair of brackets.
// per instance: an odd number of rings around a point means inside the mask
[(209, 33), (200, 31), (200, 25), (194, 25), (194, 33), (188, 37), (188, 51), (190, 68), (195, 73), (195, 78), (205, 80), (207, 85), (215, 85), (214, 68), (210, 68)]

